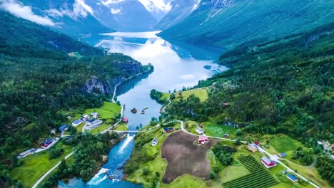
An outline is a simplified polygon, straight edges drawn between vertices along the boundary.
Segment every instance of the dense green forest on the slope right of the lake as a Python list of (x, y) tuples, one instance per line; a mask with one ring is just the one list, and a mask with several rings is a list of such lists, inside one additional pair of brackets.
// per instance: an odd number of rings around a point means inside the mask
[[(284, 133), (307, 147), (317, 147), (317, 140), (333, 143), (333, 54), (333, 24), (257, 46), (238, 46), (220, 58), (230, 70), (196, 86), (213, 85), (208, 100), (181, 99), (168, 113), (180, 120), (235, 122), (258, 135)], [(303, 156), (303, 150), (295, 154), (305, 163), (312, 160)], [(317, 165), (334, 185), (333, 170), (325, 167), (328, 160)]]

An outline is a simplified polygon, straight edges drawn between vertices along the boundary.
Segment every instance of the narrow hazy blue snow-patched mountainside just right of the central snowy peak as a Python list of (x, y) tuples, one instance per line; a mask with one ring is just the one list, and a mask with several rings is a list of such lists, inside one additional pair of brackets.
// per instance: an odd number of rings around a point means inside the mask
[(156, 24), (156, 28), (165, 30), (171, 26), (181, 23), (198, 6), (201, 0), (175, 0), (171, 2), (171, 11)]

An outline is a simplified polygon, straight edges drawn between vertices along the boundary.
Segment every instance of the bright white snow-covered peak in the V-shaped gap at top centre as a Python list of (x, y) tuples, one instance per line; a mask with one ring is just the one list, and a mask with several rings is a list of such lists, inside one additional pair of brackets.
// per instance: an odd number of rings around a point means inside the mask
[(152, 14), (157, 21), (161, 21), (169, 11), (174, 0), (138, 0)]

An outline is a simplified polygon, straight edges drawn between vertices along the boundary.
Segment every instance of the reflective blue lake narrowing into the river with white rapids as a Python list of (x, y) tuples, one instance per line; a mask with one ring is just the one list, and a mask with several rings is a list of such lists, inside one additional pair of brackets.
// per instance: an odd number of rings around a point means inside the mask
[[(205, 80), (227, 69), (214, 62), (223, 53), (221, 49), (180, 43), (175, 45), (159, 38), (156, 33), (158, 31), (116, 32), (98, 36), (96, 46), (108, 48), (110, 52), (124, 53), (144, 65), (151, 63), (154, 66), (153, 73), (118, 86), (117, 100), (126, 106), (124, 117), (128, 117), (129, 130), (148, 125), (151, 117), (160, 115), (161, 105), (149, 95), (152, 89), (163, 92), (181, 90), (183, 87), (196, 85), (198, 80)], [(139, 113), (131, 113), (132, 108), (136, 108)], [(143, 108), (148, 108), (145, 114), (140, 113)], [(128, 160), (133, 146), (133, 136), (128, 135), (110, 150), (108, 162), (89, 182), (84, 183), (81, 179), (74, 178), (67, 184), (59, 182), (59, 187), (141, 187), (121, 180), (123, 171), (119, 167)], [(114, 177), (113, 180), (104, 174), (106, 171)]]

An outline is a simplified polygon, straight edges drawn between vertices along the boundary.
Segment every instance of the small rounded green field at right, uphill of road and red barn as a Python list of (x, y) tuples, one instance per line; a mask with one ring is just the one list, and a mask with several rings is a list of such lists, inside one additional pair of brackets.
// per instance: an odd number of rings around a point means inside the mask
[[(288, 160), (291, 160), (291, 157), (293, 157), (293, 152), (297, 150), (298, 147), (303, 146), (302, 143), (298, 142), (297, 140), (293, 140), (291, 137), (288, 137), (286, 135), (281, 135), (279, 137), (274, 137), (273, 139), (269, 140), (269, 145), (273, 147), (273, 149), (278, 152), (285, 152), (286, 158)], [(270, 152), (273, 152), (273, 150), (270, 150)]]

